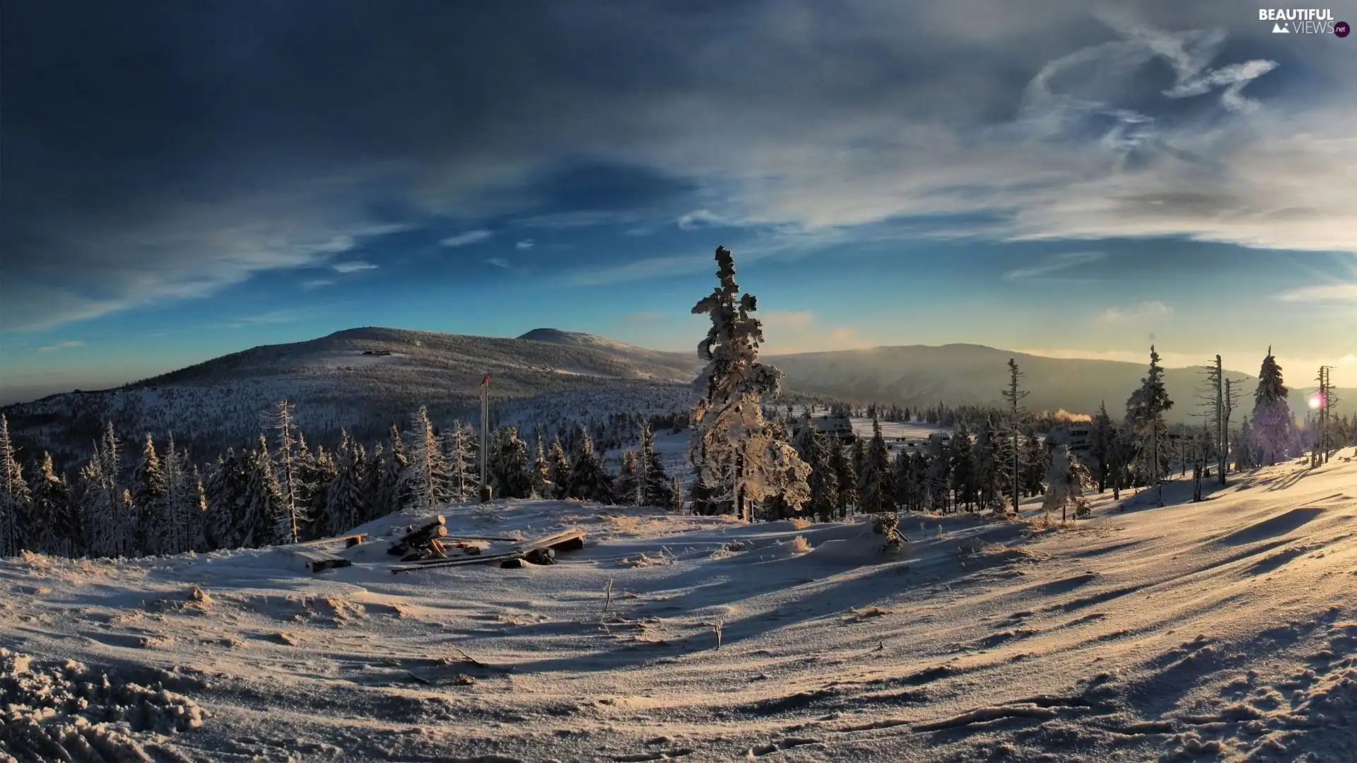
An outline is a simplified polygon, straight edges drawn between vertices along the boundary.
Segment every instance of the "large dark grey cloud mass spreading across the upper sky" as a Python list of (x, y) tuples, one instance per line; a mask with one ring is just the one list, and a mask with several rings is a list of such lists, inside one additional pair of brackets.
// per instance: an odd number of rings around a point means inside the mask
[[(339, 0), (323, 30), (282, 14), (248, 31), (195, 4), (109, 7), (90, 24), (122, 31), (90, 46), (20, 4), (7, 81), (37, 87), (60, 60), (84, 87), (5, 109), (0, 323), (202, 297), (394, 229), (525, 215), (642, 228), (711, 210), (806, 232), (974, 215), (935, 235), (1357, 251), (1357, 164), (1334, 159), (1354, 147), (1350, 49), (1274, 38), (1224, 0), (1117, 7), (1099, 26), (1079, 0), (380, 18)], [(134, 81), (157, 87), (87, 96)], [(635, 171), (573, 200), (554, 178), (586, 185), (560, 170), (582, 156)]]

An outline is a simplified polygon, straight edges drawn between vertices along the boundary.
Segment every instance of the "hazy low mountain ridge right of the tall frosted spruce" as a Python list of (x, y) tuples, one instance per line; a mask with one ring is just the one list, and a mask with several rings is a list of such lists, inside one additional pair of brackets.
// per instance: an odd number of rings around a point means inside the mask
[[(1052, 358), (982, 345), (887, 346), (772, 356), (768, 361), (787, 375), (788, 388), (802, 392), (908, 406), (939, 401), (999, 406), (1000, 391), (1008, 386), (1010, 357), (1018, 360), (1023, 372), (1020, 386), (1030, 392), (1023, 401), (1027, 409), (1091, 414), (1106, 401), (1113, 415), (1125, 413), (1126, 398), (1140, 386), (1149, 364), (1149, 353), (1139, 364)], [(1240, 391), (1240, 410), (1251, 410), (1255, 375), (1227, 369), (1225, 376)], [(1174, 401), (1171, 421), (1189, 421), (1189, 414), (1201, 411), (1194, 395), (1202, 382), (1201, 368), (1164, 371), (1164, 384)], [(1337, 392), (1349, 406), (1357, 402), (1357, 390)], [(1292, 391), (1291, 403), (1297, 414), (1303, 414), (1307, 402), (1305, 394)]]

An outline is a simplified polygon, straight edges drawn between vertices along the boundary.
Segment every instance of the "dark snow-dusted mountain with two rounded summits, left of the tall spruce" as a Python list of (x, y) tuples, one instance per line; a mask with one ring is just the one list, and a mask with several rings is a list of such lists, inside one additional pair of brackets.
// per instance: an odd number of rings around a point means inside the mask
[(479, 417), (486, 373), (502, 422), (691, 405), (696, 356), (551, 329), (525, 337), (350, 329), (258, 346), (115, 390), (52, 395), (3, 410), (22, 445), (79, 458), (110, 420), (125, 439), (172, 433), (197, 455), (246, 445), (261, 432), (261, 414), (280, 399), (296, 403), (297, 424), (312, 441), (332, 444), (341, 429), (370, 441), (392, 424), (403, 426), (421, 405), (440, 426)]

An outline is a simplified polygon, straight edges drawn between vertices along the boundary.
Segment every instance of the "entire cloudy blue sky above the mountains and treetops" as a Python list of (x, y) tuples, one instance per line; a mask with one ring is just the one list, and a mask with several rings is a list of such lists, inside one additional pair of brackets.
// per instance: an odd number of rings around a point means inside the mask
[(0, 402), (369, 324), (688, 350), (716, 244), (772, 352), (1273, 345), (1357, 386), (1352, 38), (1227, 1), (313, 11), (7, 7)]

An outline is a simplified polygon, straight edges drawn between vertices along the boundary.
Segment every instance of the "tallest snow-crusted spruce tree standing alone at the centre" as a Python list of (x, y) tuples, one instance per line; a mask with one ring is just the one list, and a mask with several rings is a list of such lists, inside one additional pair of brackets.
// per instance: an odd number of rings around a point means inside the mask
[(734, 257), (716, 247), (715, 259), (719, 285), (692, 308), (693, 315), (711, 316), (711, 329), (697, 345), (707, 367), (696, 382), (702, 399), (692, 413), (688, 452), (715, 501), (729, 502), (748, 521), (749, 504), (773, 496), (799, 508), (809, 494), (810, 467), (769, 434), (761, 401), (778, 395), (782, 372), (759, 362), (763, 324), (752, 315), (757, 300), (740, 293)]

